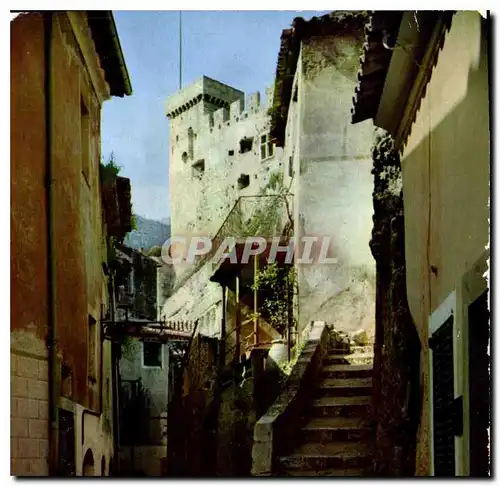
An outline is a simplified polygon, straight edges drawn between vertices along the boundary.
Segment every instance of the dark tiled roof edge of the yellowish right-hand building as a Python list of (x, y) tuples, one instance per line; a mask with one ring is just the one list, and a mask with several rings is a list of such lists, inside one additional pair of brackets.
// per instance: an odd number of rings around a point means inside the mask
[(365, 43), (358, 71), (358, 85), (353, 98), (352, 123), (373, 118), (377, 113), (389, 63), (391, 45), (395, 43), (402, 11), (378, 11), (365, 26)]

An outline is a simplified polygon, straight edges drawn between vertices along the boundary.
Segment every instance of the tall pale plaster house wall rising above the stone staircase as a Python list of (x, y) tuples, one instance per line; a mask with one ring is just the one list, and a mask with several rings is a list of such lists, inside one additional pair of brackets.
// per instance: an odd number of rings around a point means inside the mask
[(361, 29), (310, 38), (296, 71), (297, 102), (288, 120), (294, 148), (285, 149), (294, 160), (295, 236), (330, 237), (328, 256), (338, 259), (298, 265), (300, 329), (325, 320), (339, 330), (373, 333), (372, 127), (350, 123), (361, 45)]

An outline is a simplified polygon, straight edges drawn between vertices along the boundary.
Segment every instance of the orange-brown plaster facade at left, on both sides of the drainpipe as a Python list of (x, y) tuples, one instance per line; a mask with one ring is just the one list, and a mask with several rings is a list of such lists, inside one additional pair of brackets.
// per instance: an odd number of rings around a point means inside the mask
[[(80, 40), (93, 46), (85, 30), (83, 13), (72, 14), (83, 25)], [(81, 33), (82, 33), (81, 32)], [(12, 40), (12, 473), (48, 474), (48, 282), (43, 17), (21, 16), (11, 25)], [(93, 48), (93, 47), (92, 47)], [(97, 54), (92, 66), (81, 54), (73, 27), (66, 13), (53, 18), (52, 39), (52, 161), (54, 187), (53, 228), (56, 272), (55, 321), (61, 363), (70, 370), (62, 393), (81, 407), (99, 410), (103, 415), (87, 437), (97, 433), (105, 440), (94, 441), (94, 458), (112, 454), (110, 424), (111, 386), (101, 387), (100, 326), (96, 325), (95, 373), (87, 368), (89, 356), (89, 315), (98, 323), (101, 304), (107, 302), (102, 273), (105, 260), (99, 190), (100, 99), (90, 70), (97, 72)], [(104, 80), (102, 79), (104, 83)], [(82, 173), (81, 103), (89, 114), (88, 178)], [(105, 309), (104, 309), (105, 311)], [(111, 380), (109, 349), (103, 356), (103, 383)], [(26, 358), (26, 359), (24, 359)], [(15, 371), (14, 371), (15, 370)], [(95, 375), (91, 384), (88, 376)], [(106, 417), (109, 419), (107, 420)], [(19, 420), (18, 420), (19, 419)], [(82, 422), (75, 416), (75, 429), (81, 434)], [(86, 425), (84, 425), (86, 427)], [(77, 450), (77, 472), (83, 455)], [(96, 462), (97, 464), (97, 462)], [(100, 462), (99, 462), (100, 464)], [(96, 469), (97, 470), (97, 469)]]

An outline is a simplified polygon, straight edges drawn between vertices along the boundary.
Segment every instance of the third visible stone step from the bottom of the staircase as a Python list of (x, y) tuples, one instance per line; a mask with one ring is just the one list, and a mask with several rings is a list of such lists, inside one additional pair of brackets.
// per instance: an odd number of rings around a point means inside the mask
[(300, 430), (303, 443), (362, 441), (370, 438), (371, 428), (361, 417), (314, 417)]

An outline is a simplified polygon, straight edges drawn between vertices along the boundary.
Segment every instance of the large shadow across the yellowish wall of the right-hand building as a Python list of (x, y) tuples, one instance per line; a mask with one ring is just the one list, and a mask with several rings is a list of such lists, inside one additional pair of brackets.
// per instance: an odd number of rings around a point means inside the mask
[[(452, 27), (453, 28), (453, 27)], [(486, 21), (482, 20), (483, 39), (488, 38)], [(441, 54), (441, 53), (440, 53)], [(438, 58), (439, 62), (439, 58)], [(431, 237), (431, 252), (434, 265), (439, 269), (457, 268), (460, 258), (467, 258), (466, 254), (476, 248), (484, 248), (488, 242), (488, 198), (489, 198), (489, 165), (481, 170), (482, 164), (478, 159), (489, 158), (490, 132), (488, 123), (488, 50), (487, 41), (481, 42), (480, 63), (476, 69), (470, 69), (467, 80), (467, 91), (465, 97), (453, 107), (446, 116), (428, 133), (405, 159), (403, 185), (410, 187), (414, 181), (408, 182), (405, 177), (412, 167), (421, 172), (419, 175), (424, 180), (424, 190), (428, 191), (427, 179), (430, 178), (433, 190), (433, 203), (431, 217), (434, 232)], [(450, 86), (452, 81), (448, 81)], [(427, 88), (428, 93), (428, 88)], [(478, 114), (483, 117), (483, 123), (478, 123)], [(417, 114), (418, 116), (418, 114)], [(476, 120), (476, 123), (474, 123)], [(429, 147), (438, 148), (439, 153), (434, 154), (432, 160), (428, 160)], [(432, 155), (432, 152), (431, 152)], [(423, 161), (430, 162), (431, 174), (428, 174), (428, 166), (422, 166)], [(415, 172), (411, 171), (413, 174)], [(422, 175), (423, 173), (423, 175)], [(418, 181), (417, 181), (418, 182)], [(481, 189), (484, 188), (484, 189)], [(403, 188), (404, 189), (404, 188)], [(437, 199), (436, 199), (437, 198)], [(425, 199), (424, 199), (425, 201)], [(412, 208), (411, 217), (415, 219), (408, 221), (407, 228), (416, 227), (422, 219), (422, 212), (427, 215), (428, 208)], [(477, 218), (477, 214), (484, 211), (484, 219)], [(446, 217), (443, 215), (446, 214)], [(406, 211), (405, 217), (410, 217)], [(427, 217), (427, 216), (426, 216)], [(420, 223), (421, 224), (421, 223)], [(446, 226), (444, 226), (444, 224)], [(461, 237), (447, 238), (446, 235), (460, 235)], [(443, 236), (441, 236), (443, 235)], [(407, 282), (408, 301), (412, 316), (414, 316), (417, 330), (422, 342), (423, 363), (428, 363), (428, 329), (425, 311), (434, 309), (444, 298), (443, 291), (450, 285), (451, 272), (442, 272), (433, 275), (433, 283), (429, 292), (428, 284), (424, 280), (427, 272), (422, 272), (422, 259), (425, 258), (425, 249), (419, 249), (418, 239), (415, 233), (408, 231), (409, 243), (407, 248), (413, 248), (407, 254)], [(446, 249), (441, 246), (440, 238), (450, 242)], [(415, 241), (413, 241), (415, 239)], [(468, 250), (464, 251), (464, 248)], [(436, 261), (438, 263), (436, 263)], [(426, 278), (426, 277), (425, 277)], [(445, 282), (444, 279), (447, 278)], [(452, 284), (454, 285), (454, 283)], [(429, 293), (431, 302), (420, 303), (420, 295)], [(430, 451), (429, 443), (429, 417), (428, 417), (428, 394), (427, 384), (429, 377), (427, 369), (423, 367), (420, 379), (421, 388), (421, 412), (419, 417), (420, 431), (417, 448), (417, 475), (429, 474)], [(400, 415), (400, 412), (398, 412)]]

